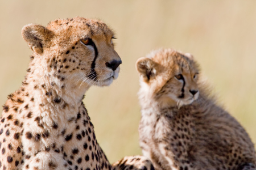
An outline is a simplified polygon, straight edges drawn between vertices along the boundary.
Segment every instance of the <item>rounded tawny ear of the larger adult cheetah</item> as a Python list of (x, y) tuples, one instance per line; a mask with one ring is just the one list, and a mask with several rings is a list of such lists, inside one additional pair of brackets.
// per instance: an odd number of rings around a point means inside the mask
[(43, 53), (43, 46), (51, 40), (53, 32), (38, 24), (28, 24), (22, 28), (22, 37), (36, 53)]

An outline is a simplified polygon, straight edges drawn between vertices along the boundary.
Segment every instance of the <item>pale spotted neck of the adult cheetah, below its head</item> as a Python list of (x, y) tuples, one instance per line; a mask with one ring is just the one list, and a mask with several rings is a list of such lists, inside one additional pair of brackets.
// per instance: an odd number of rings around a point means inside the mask
[(24, 111), (29, 108), (34, 116), (61, 117), (67, 121), (79, 112), (89, 86), (79, 88), (80, 84), (55, 69), (57, 58), (47, 58), (35, 54), (31, 56), (22, 86), (9, 95), (6, 105), (26, 115)]

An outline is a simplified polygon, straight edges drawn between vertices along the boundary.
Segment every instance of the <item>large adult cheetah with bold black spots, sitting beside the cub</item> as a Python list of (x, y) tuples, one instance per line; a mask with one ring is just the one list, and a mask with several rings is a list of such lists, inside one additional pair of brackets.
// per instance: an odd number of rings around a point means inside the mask
[[(77, 17), (25, 25), (22, 36), (33, 53), (22, 86), (3, 105), (0, 169), (112, 169), (82, 99), (90, 86), (109, 86), (118, 77), (113, 32)], [(134, 162), (134, 169), (150, 166)]]

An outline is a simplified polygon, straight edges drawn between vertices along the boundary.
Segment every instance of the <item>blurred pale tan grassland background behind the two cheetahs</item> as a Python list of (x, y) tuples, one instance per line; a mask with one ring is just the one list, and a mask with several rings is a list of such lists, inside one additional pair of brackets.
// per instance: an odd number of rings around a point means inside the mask
[[(113, 28), (122, 58), (110, 87), (92, 87), (84, 99), (97, 140), (115, 162), (141, 154), (141, 117), (135, 62), (152, 49), (191, 53), (225, 106), (256, 142), (256, 1), (3, 1), (0, 0), (0, 104), (21, 85), (31, 50), (23, 25), (47, 25), (82, 16)], [(0, 111), (2, 110), (2, 107)]]

